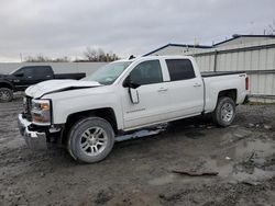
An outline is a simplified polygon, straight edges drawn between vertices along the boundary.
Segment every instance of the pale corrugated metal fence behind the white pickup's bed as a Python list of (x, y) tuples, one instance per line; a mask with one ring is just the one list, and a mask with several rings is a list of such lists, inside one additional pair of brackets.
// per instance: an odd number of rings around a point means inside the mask
[(188, 53), (201, 71), (244, 71), (253, 101), (275, 102), (275, 39)]

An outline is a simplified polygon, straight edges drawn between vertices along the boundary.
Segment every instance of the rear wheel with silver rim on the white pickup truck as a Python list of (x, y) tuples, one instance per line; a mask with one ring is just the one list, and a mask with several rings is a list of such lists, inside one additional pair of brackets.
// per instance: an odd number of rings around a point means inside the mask
[[(226, 110), (226, 111), (224, 111)], [(212, 113), (213, 122), (221, 126), (228, 127), (235, 118), (235, 103), (231, 98), (219, 98), (217, 106)]]

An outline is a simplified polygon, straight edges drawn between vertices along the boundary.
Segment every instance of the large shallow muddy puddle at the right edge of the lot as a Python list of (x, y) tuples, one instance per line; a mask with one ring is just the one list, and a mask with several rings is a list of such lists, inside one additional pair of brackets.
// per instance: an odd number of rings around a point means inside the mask
[[(242, 140), (235, 147), (230, 148), (223, 156), (217, 159), (210, 159), (206, 161), (205, 168), (219, 172), (221, 178), (232, 178), (237, 181), (262, 181), (271, 179), (275, 175), (275, 171), (265, 171), (263, 169), (255, 168), (256, 163), (265, 163), (266, 157), (272, 156), (275, 152), (275, 142), (268, 140)], [(226, 159), (230, 157), (230, 160)], [(242, 162), (252, 160), (251, 169), (248, 170)], [(240, 162), (240, 167), (234, 167)], [(239, 165), (238, 164), (238, 165)]]

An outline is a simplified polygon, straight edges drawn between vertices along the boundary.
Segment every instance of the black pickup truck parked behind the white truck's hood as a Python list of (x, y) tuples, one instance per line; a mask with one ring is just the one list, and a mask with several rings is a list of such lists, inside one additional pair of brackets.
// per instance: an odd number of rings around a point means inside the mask
[(25, 66), (10, 75), (0, 75), (0, 102), (10, 102), (13, 92), (51, 79), (81, 79), (86, 73), (54, 73), (51, 66)]

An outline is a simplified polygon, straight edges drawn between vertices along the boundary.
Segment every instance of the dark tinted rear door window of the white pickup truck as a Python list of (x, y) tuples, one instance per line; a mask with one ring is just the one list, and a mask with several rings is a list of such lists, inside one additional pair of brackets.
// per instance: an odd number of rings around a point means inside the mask
[(195, 78), (194, 68), (189, 59), (166, 59), (170, 81)]

